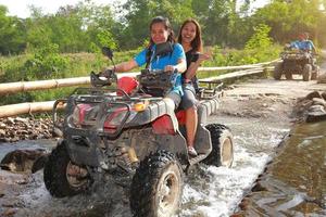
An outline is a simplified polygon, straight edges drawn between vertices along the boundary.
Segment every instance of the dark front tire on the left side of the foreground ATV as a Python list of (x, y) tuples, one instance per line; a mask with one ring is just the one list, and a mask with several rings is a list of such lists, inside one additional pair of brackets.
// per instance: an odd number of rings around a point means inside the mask
[[(73, 177), (68, 175), (68, 168), (77, 167), (83, 169), (83, 177)], [(87, 173), (87, 174), (85, 174)], [(52, 196), (63, 197), (78, 194), (91, 184), (91, 178), (85, 167), (72, 163), (67, 153), (65, 143), (60, 143), (49, 155), (43, 169), (43, 180), (46, 188)]]

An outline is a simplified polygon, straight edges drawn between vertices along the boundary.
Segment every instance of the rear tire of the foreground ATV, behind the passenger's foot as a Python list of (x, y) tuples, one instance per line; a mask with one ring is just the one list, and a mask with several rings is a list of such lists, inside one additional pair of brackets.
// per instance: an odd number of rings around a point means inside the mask
[(211, 132), (212, 152), (204, 163), (230, 167), (234, 162), (234, 137), (230, 129), (220, 124), (208, 125), (206, 129)]

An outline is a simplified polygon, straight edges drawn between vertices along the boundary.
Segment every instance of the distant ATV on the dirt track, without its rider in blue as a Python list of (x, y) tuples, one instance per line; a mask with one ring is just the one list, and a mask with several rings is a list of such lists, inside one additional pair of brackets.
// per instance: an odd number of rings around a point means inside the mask
[(309, 51), (286, 49), (280, 53), (281, 62), (274, 68), (274, 78), (279, 80), (284, 74), (286, 79), (292, 79), (293, 74), (302, 75), (304, 81), (317, 79), (319, 66), (315, 65), (315, 58)]

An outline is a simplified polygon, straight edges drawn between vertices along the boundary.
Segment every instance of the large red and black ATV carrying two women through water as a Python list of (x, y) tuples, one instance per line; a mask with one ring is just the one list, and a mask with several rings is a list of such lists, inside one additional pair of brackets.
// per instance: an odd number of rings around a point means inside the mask
[[(109, 49), (104, 53), (112, 60)], [(167, 217), (178, 210), (184, 174), (192, 165), (231, 166), (229, 128), (206, 124), (218, 108), (221, 88), (201, 91), (195, 142), (199, 154), (191, 157), (185, 139), (185, 112), (175, 113), (162, 98), (142, 91), (168, 89), (175, 73), (143, 69), (137, 79), (117, 79), (114, 71), (105, 71), (106, 79), (101, 75), (91, 73), (92, 88), (78, 88), (54, 103), (53, 123), (58, 123), (58, 105), (66, 106), (63, 139), (43, 169), (52, 196), (88, 191), (95, 181), (110, 176), (116, 184), (129, 188), (134, 216)], [(117, 84), (116, 88), (112, 84)]]

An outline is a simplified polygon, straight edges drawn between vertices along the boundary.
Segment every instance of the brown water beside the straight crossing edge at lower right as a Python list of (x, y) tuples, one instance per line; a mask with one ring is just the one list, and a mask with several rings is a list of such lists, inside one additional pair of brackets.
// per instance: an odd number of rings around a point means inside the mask
[(326, 122), (296, 126), (262, 186), (251, 213), (326, 216)]

